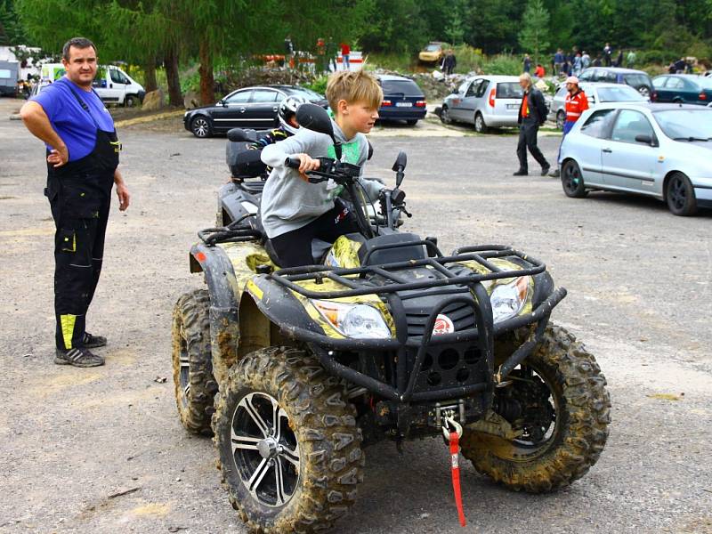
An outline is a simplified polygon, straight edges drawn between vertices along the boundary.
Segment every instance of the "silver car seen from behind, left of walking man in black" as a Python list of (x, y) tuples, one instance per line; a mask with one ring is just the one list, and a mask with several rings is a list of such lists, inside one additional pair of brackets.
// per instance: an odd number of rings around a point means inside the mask
[(516, 76), (467, 78), (442, 102), (440, 118), (445, 124), (472, 124), (481, 134), (488, 128), (516, 126), (522, 94)]

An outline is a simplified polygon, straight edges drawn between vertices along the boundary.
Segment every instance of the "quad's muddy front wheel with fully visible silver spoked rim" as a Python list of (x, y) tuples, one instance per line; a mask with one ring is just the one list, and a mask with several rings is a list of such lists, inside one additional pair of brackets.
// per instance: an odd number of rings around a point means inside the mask
[(285, 347), (239, 360), (213, 416), (223, 486), (251, 531), (314, 532), (347, 514), (365, 457), (344, 383)]

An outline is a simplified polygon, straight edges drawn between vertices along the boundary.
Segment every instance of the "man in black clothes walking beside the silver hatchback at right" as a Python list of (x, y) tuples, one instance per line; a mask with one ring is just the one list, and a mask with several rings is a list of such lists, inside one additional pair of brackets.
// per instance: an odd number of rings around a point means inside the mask
[(546, 176), (551, 166), (537, 146), (537, 134), (539, 126), (546, 122), (546, 102), (531, 81), (529, 74), (522, 73), (519, 77), (519, 85), (522, 86), (524, 94), (522, 104), (519, 107), (519, 117), (517, 122), (520, 125), (519, 143), (517, 144), (517, 158), (519, 158), (519, 170), (514, 176), (526, 176), (529, 174), (527, 165), (527, 149), (541, 166), (541, 175)]

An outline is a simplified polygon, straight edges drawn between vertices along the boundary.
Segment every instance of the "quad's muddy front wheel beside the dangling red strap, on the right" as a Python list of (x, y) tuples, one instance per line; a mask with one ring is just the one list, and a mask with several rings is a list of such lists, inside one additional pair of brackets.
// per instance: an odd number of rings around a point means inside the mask
[(510, 376), (513, 384), (498, 395), (522, 403), (513, 428), (524, 433), (506, 440), (465, 432), (463, 455), (512, 490), (543, 493), (568, 486), (595, 464), (608, 438), (611, 399), (601, 369), (574, 336), (550, 326)]

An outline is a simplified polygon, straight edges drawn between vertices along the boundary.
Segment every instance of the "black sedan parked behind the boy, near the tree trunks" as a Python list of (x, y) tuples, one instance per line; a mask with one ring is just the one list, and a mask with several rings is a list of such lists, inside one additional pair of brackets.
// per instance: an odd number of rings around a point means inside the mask
[(287, 96), (300, 95), (328, 107), (320, 93), (298, 85), (255, 85), (233, 91), (212, 106), (190, 109), (183, 115), (185, 129), (196, 137), (223, 134), (231, 128), (269, 130), (279, 125), (279, 102)]

